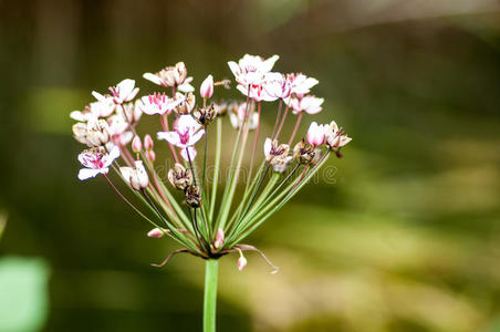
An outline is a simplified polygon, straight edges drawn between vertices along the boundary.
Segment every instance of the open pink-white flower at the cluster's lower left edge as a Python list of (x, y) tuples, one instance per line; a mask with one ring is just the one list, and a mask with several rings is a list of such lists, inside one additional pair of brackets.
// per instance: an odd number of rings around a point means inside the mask
[(97, 174), (107, 174), (110, 165), (119, 156), (119, 149), (115, 146), (107, 154), (104, 148), (91, 148), (79, 155), (79, 162), (85, 168), (80, 169), (79, 179), (84, 180), (95, 177)]

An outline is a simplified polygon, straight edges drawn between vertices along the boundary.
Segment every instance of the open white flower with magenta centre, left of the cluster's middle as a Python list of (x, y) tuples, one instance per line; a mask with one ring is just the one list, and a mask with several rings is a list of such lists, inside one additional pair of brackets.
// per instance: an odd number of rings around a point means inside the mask
[(180, 115), (174, 124), (174, 132), (159, 132), (158, 139), (165, 139), (178, 148), (195, 145), (205, 134), (201, 125), (189, 114)]

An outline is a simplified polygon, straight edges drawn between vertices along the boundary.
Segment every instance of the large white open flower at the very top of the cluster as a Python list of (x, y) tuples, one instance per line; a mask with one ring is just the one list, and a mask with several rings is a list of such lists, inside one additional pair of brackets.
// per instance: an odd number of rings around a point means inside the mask
[(264, 74), (272, 70), (274, 63), (280, 59), (278, 55), (263, 60), (258, 55), (244, 54), (238, 63), (229, 61), (228, 65), (236, 77), (236, 81), (248, 89), (248, 85), (260, 85), (264, 80)]

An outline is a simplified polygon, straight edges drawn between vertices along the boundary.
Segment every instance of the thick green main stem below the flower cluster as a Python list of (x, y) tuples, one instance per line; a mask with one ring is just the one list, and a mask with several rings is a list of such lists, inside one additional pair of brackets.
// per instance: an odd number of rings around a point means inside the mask
[(217, 273), (219, 260), (207, 259), (205, 262), (204, 332), (216, 331)]

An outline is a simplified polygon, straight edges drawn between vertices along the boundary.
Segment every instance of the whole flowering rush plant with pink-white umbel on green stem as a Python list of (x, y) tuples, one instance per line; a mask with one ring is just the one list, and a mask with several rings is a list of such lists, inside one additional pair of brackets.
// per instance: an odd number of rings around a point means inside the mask
[[(242, 270), (247, 266), (243, 251), (257, 251), (275, 272), (278, 268), (262, 251), (242, 241), (296, 195), (329, 156), (341, 157), (341, 148), (351, 142), (333, 121), (312, 122), (305, 135), (295, 139), (303, 115), (321, 112), (324, 100), (311, 94), (317, 80), (302, 73), (272, 72), (278, 59), (246, 54), (239, 62), (228, 62), (236, 87), (244, 96), (240, 102), (215, 101), (215, 90), (229, 87), (230, 81), (208, 75), (196, 93), (197, 103), (192, 77), (179, 62), (144, 74), (160, 92), (136, 98), (139, 90), (127, 79), (111, 86), (108, 93), (92, 92), (95, 101), (71, 113), (77, 121), (74, 137), (88, 146), (79, 155), (83, 165), (79, 178), (102, 175), (153, 226), (148, 237), (173, 239), (181, 247), (157, 266), (180, 252), (206, 261), (204, 331), (216, 326), (218, 260), (237, 253)], [(278, 104), (278, 111), (272, 132), (262, 136), (265, 139), (259, 147), (263, 103)], [(153, 135), (156, 143), (150, 134), (139, 132), (144, 114), (159, 120), (159, 129)], [(237, 134), (225, 189), (219, 190), (225, 117)], [(293, 131), (283, 137), (283, 125), (293, 117)], [(209, 148), (209, 139), (215, 139), (215, 151)], [(174, 166), (168, 181), (157, 172), (155, 144), (169, 147)], [(243, 157), (249, 159), (246, 174)], [(127, 195), (114, 185), (110, 168), (126, 183)], [(238, 185), (243, 186), (241, 195), (237, 195)], [(136, 196), (140, 207), (126, 196)]]

